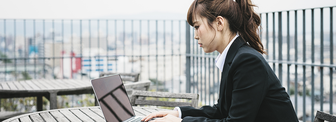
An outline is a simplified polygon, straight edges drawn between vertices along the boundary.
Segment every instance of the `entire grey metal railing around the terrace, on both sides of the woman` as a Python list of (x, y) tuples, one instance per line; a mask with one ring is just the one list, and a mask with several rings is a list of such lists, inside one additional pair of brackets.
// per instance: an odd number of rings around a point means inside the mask
[[(303, 121), (312, 121), (317, 110), (335, 112), (333, 11), (260, 14), (264, 57)], [(214, 65), (218, 52), (204, 53), (193, 37), (185, 20), (2, 19), (0, 81), (137, 72), (154, 89), (198, 93), (202, 105), (213, 105), (221, 76)]]

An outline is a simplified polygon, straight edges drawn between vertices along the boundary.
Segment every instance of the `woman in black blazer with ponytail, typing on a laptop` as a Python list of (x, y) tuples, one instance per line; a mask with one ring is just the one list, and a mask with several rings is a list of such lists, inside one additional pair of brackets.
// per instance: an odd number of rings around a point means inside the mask
[(204, 52), (218, 51), (218, 104), (147, 115), (153, 122), (298, 122), (285, 88), (261, 54), (260, 17), (251, 0), (195, 0), (187, 14)]

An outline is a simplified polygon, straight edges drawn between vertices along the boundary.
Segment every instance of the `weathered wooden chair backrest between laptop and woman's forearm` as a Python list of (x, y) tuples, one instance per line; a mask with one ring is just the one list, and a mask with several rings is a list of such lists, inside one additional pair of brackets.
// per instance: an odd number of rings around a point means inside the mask
[[(191, 100), (191, 102), (157, 101), (157, 100), (143, 99), (139, 97), (186, 99)], [(198, 99), (199, 95), (196, 93), (168, 93), (168, 92), (150, 92), (143, 90), (133, 90), (131, 96), (131, 105), (132, 106), (151, 105), (151, 106), (165, 106), (165, 107), (192, 106), (194, 108), (197, 108)]]

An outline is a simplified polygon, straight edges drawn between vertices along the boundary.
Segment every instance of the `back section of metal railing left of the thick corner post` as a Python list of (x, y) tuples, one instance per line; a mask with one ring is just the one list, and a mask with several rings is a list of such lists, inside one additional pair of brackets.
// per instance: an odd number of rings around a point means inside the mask
[[(185, 91), (185, 20), (0, 20), (0, 81), (137, 72)], [(182, 84), (183, 84), (182, 83)], [(179, 87), (172, 87), (179, 86)]]

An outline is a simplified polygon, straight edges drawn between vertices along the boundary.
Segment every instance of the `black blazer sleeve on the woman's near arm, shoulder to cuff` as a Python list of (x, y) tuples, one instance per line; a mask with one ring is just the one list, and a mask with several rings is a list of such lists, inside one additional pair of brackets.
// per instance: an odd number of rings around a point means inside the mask
[(182, 107), (182, 122), (253, 122), (268, 90), (268, 75), (261, 60), (251, 53), (235, 57), (227, 75), (233, 85), (227, 117), (222, 116), (218, 104), (200, 109)]

